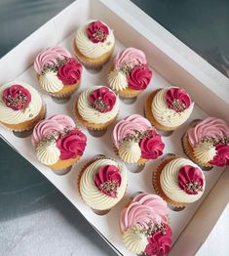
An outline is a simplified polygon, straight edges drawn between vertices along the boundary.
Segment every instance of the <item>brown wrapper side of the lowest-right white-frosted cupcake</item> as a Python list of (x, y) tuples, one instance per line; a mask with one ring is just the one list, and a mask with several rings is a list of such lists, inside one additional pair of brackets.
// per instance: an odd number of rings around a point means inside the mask
[(171, 198), (169, 198), (165, 192), (163, 192), (162, 188), (161, 188), (161, 184), (160, 184), (160, 175), (161, 175), (161, 172), (164, 168), (164, 166), (169, 163), (170, 161), (172, 161), (173, 159), (175, 158), (178, 158), (178, 156), (171, 156), (171, 157), (168, 157), (167, 159), (163, 160), (157, 167), (157, 169), (153, 172), (153, 175), (152, 175), (152, 184), (153, 184), (153, 188), (154, 188), (154, 191), (160, 195), (165, 201), (167, 201), (167, 203), (169, 205), (171, 205), (172, 207), (175, 207), (175, 208), (183, 208), (187, 205), (187, 203), (185, 202), (176, 202), (176, 201), (173, 201)]

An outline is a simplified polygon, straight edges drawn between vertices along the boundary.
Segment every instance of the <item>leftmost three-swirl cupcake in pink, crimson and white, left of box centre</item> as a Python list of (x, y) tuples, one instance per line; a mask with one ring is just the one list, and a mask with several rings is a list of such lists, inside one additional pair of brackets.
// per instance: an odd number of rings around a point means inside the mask
[(61, 174), (61, 170), (69, 170), (81, 158), (87, 137), (70, 117), (57, 114), (34, 127), (32, 144), (38, 160)]

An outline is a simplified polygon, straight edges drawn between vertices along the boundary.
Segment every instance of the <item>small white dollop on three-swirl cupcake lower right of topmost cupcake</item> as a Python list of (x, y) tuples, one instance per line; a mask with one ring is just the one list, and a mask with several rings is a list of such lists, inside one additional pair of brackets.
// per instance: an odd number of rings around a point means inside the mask
[(126, 75), (119, 70), (113, 70), (108, 73), (107, 81), (109, 87), (114, 91), (123, 91), (128, 87)]

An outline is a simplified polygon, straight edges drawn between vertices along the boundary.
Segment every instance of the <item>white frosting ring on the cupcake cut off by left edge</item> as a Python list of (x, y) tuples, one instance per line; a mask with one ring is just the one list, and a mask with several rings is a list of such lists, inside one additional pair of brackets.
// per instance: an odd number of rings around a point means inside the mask
[[(2, 100), (3, 91), (12, 85), (19, 84), (29, 91), (31, 94), (31, 102), (24, 109), (14, 110), (7, 107)], [(42, 99), (39, 93), (30, 85), (20, 81), (12, 81), (3, 84), (0, 87), (0, 121), (7, 124), (19, 124), (33, 119), (37, 116), (42, 108)]]

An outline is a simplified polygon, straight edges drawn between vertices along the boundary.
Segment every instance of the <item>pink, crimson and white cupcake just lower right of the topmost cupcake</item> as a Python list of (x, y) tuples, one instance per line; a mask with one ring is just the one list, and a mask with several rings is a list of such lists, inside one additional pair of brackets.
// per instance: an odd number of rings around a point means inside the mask
[(135, 48), (119, 52), (108, 73), (109, 87), (123, 98), (134, 98), (144, 91), (152, 78), (145, 54)]

